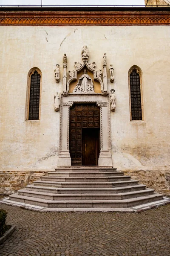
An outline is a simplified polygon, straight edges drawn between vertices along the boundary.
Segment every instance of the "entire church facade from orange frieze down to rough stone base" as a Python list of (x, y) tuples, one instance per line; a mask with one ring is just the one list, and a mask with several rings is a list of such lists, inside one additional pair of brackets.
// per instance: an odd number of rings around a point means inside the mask
[(0, 9), (0, 193), (113, 166), (170, 195), (168, 8)]

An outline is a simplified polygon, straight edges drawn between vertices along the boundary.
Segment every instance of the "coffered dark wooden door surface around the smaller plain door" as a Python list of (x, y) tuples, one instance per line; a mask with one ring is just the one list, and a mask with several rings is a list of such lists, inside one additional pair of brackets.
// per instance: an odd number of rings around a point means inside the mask
[[(75, 104), (70, 109), (71, 165), (82, 165), (82, 129), (100, 128), (100, 109), (94, 104)], [(96, 139), (95, 139), (96, 140)], [(83, 144), (84, 145), (84, 144)]]

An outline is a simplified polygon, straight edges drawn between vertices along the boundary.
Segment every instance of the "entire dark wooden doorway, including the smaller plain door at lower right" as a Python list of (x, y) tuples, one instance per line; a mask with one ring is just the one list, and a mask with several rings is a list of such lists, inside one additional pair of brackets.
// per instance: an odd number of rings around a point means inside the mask
[(70, 108), (71, 165), (97, 166), (100, 152), (100, 109), (95, 104)]

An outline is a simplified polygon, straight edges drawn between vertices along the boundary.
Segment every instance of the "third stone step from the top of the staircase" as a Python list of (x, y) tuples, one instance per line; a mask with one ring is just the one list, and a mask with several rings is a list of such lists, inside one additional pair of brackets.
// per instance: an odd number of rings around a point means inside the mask
[(42, 181), (58, 181), (58, 182), (115, 182), (130, 180), (130, 176), (113, 176), (113, 177), (55, 177), (55, 176), (45, 176), (41, 177)]

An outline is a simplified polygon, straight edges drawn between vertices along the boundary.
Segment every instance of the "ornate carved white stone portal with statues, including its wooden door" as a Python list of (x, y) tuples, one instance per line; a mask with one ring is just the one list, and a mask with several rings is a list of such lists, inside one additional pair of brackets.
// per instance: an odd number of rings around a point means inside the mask
[[(63, 92), (60, 108), (57, 108), (60, 109), (58, 166), (112, 166), (106, 54), (103, 55), (103, 72), (95, 69), (94, 61), (88, 63), (86, 45), (81, 54), (82, 63), (74, 62), (75, 70), (68, 71), (68, 81), (66, 54), (63, 57)], [(94, 81), (100, 84), (98, 93), (94, 90)]]

